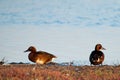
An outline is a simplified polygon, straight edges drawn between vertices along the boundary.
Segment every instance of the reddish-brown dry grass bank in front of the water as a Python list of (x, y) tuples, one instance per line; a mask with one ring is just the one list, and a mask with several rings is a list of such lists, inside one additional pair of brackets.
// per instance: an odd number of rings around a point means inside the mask
[(120, 80), (120, 66), (1, 65), (0, 80)]

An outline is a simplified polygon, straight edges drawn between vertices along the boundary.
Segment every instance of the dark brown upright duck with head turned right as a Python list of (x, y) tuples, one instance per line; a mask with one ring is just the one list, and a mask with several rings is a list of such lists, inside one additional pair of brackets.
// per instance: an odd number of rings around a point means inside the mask
[(106, 50), (101, 44), (96, 44), (95, 50), (90, 54), (89, 61), (91, 65), (102, 65), (105, 55), (101, 50)]

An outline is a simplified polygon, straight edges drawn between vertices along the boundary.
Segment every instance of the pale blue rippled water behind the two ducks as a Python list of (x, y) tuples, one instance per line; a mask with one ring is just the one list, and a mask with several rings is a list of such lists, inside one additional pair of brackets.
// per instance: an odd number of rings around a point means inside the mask
[(55, 54), (55, 62), (85, 62), (97, 43), (104, 64), (120, 62), (119, 0), (0, 0), (0, 59), (30, 62), (34, 45)]

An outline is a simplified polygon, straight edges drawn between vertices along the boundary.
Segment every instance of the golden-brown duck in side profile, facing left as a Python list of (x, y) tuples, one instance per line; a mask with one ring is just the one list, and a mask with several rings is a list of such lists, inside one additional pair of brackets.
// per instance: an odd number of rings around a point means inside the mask
[(34, 46), (30, 46), (24, 52), (30, 52), (28, 55), (28, 59), (37, 64), (47, 64), (51, 62), (54, 58), (57, 58), (51, 53), (45, 51), (37, 51)]

